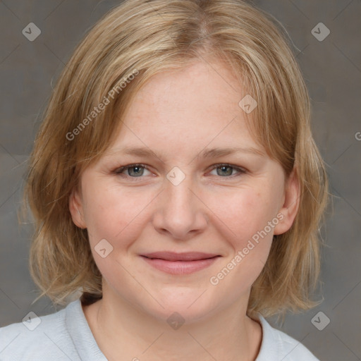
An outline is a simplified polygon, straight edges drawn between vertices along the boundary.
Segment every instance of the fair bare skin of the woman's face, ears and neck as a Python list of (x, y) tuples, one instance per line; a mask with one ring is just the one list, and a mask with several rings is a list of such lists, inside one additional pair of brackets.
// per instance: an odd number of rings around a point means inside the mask
[[(256, 359), (262, 327), (246, 315), (250, 288), (273, 235), (293, 224), (299, 188), (295, 173), (286, 180), (281, 165), (251, 137), (247, 114), (238, 106), (245, 94), (220, 62), (194, 61), (159, 73), (135, 95), (122, 119), (126, 126), (106, 154), (82, 173), (70, 210), (74, 223), (87, 228), (103, 276), (102, 300), (83, 310), (108, 360)], [(128, 146), (149, 148), (158, 157), (125, 155), (120, 149)], [(264, 154), (197, 157), (218, 147), (253, 147)], [(146, 168), (113, 172), (130, 164)], [(166, 178), (175, 166), (185, 174), (178, 185)], [(282, 221), (211, 284), (279, 212)], [(102, 239), (113, 247), (104, 258), (94, 250)], [(175, 275), (140, 256), (164, 250), (220, 257), (205, 269)], [(178, 329), (166, 321), (173, 312), (185, 319)]]

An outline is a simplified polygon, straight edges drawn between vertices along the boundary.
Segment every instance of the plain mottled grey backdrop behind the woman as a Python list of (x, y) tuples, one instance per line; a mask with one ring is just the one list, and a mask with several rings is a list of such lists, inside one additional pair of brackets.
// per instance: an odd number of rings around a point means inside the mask
[[(31, 224), (18, 224), (23, 175), (41, 112), (59, 72), (85, 30), (120, 1), (0, 1), (0, 326), (21, 322), (30, 312), (53, 313), (49, 298), (34, 305), (36, 287), (27, 269)], [(288, 314), (283, 326), (320, 360), (361, 360), (361, 1), (255, 1), (286, 28), (312, 98), (314, 138), (327, 164), (334, 212), (322, 234), (324, 302)], [(22, 34), (35, 23), (41, 35)], [(322, 42), (318, 23), (331, 31)], [(330, 323), (319, 331), (317, 312)], [(324, 322), (325, 316), (320, 318)], [(318, 319), (317, 319), (318, 321)], [(1, 350), (0, 350), (1, 353)]]

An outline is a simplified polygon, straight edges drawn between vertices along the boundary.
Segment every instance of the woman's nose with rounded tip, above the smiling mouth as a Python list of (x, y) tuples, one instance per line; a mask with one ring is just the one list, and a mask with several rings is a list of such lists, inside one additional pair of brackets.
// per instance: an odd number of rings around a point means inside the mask
[(207, 227), (207, 206), (192, 178), (185, 176), (178, 185), (166, 178), (164, 190), (158, 198), (152, 221), (159, 233), (177, 240), (187, 240)]

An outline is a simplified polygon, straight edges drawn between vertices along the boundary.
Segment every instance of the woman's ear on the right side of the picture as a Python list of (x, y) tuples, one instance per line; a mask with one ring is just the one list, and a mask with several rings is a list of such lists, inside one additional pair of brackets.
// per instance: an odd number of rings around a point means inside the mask
[(279, 210), (283, 218), (279, 218), (279, 224), (274, 227), (274, 235), (287, 232), (295, 220), (300, 205), (300, 183), (298, 181), (297, 168), (288, 176), (283, 195), (283, 207)]

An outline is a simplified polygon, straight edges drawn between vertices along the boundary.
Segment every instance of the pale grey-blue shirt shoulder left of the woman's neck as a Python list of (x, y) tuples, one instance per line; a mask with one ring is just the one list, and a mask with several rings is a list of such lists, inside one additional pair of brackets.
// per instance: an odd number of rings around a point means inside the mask
[[(68, 305), (69, 307), (69, 305)], [(0, 360), (78, 360), (66, 329), (66, 310), (37, 317), (30, 313), (23, 322), (0, 328)]]

